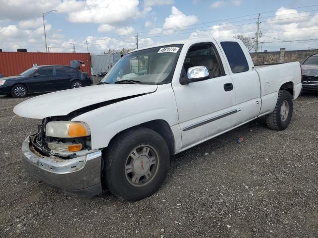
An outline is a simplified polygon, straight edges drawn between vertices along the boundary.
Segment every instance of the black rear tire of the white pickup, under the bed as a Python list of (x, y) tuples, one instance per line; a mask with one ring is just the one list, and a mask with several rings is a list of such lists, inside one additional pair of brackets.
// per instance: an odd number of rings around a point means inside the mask
[[(284, 114), (285, 117), (281, 115), (281, 109), (284, 104), (286, 108), (286, 103), (288, 105), (288, 113)], [(286, 110), (287, 111), (287, 110)], [(278, 99), (274, 109), (269, 115), (266, 115), (266, 124), (270, 129), (273, 130), (284, 130), (289, 125), (293, 115), (293, 97), (285, 90), (278, 92)]]

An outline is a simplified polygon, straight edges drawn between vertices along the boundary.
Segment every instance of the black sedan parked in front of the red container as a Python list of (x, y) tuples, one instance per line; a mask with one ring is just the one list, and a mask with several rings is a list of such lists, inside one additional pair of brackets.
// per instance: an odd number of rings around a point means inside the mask
[(0, 95), (25, 97), (28, 93), (52, 92), (89, 86), (87, 73), (67, 65), (41, 65), (29, 68), (18, 76), (0, 78)]

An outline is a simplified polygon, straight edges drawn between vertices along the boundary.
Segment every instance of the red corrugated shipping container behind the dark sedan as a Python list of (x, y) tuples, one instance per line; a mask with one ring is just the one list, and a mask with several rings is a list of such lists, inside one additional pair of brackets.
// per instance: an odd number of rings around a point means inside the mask
[(4, 77), (19, 75), (37, 65), (63, 64), (70, 65), (71, 60), (81, 60), (83, 72), (90, 76), (90, 54), (89, 53), (37, 53), (37, 52), (0, 52), (0, 74)]

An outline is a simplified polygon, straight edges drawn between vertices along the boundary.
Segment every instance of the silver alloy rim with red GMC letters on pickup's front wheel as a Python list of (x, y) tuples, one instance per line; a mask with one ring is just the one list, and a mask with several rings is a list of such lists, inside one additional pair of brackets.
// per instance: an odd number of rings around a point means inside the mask
[(136, 187), (145, 186), (156, 176), (159, 168), (159, 155), (150, 145), (136, 146), (125, 163), (127, 181)]

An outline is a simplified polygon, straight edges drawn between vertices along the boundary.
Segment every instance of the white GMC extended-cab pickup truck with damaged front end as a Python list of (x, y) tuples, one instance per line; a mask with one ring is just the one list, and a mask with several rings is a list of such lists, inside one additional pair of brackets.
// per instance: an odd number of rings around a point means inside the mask
[(42, 119), (22, 144), (33, 177), (81, 196), (108, 189), (136, 201), (159, 189), (174, 154), (262, 116), (285, 129), (301, 90), (298, 62), (255, 69), (237, 39), (189, 39), (132, 51), (99, 85), (13, 111)]

